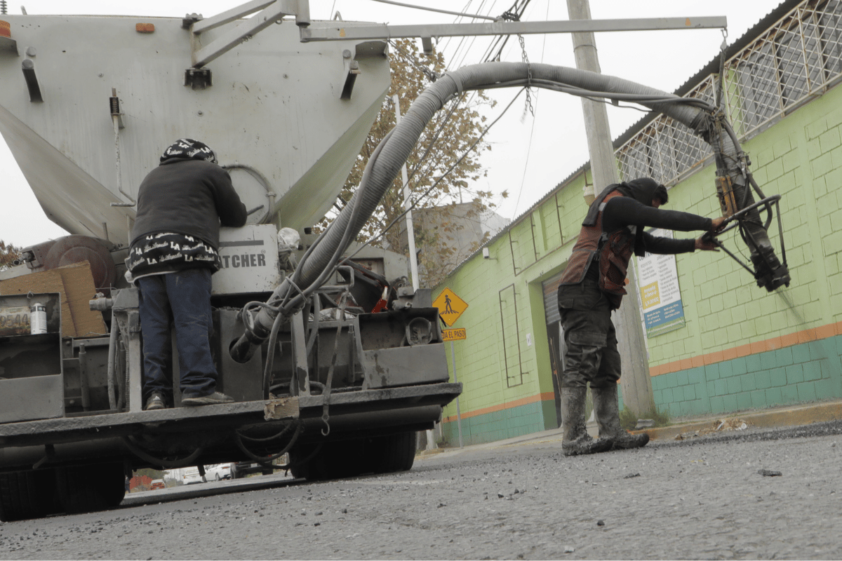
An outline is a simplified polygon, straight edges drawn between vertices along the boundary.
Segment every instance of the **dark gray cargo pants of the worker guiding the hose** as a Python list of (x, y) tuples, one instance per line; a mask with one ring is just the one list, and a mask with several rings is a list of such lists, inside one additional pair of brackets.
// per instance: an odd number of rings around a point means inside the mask
[(562, 388), (608, 388), (620, 379), (620, 352), (610, 300), (595, 281), (558, 287), (564, 355)]

